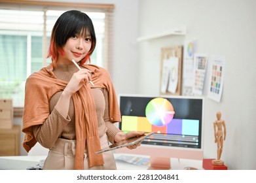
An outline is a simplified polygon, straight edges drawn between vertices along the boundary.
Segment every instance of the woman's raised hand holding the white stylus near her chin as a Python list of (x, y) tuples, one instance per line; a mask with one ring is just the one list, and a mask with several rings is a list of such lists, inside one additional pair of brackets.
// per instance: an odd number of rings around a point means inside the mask
[(81, 69), (77, 71), (77, 73), (74, 73), (65, 87), (64, 92), (72, 95), (77, 92), (84, 83), (88, 84), (88, 82), (92, 80), (90, 73), (92, 73), (92, 71), (88, 69)]

